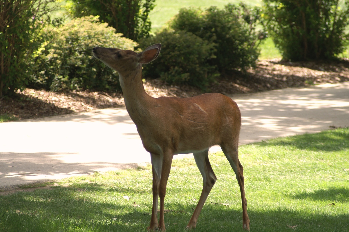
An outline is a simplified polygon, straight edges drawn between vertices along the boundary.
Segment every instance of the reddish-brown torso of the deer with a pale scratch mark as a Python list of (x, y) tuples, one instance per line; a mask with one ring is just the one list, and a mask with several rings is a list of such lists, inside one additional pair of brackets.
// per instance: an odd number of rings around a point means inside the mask
[(240, 111), (232, 99), (219, 93), (206, 93), (190, 98), (154, 99), (148, 118), (137, 129), (149, 152), (158, 149), (158, 144), (167, 144), (166, 147), (179, 154), (238, 137), (240, 124)]

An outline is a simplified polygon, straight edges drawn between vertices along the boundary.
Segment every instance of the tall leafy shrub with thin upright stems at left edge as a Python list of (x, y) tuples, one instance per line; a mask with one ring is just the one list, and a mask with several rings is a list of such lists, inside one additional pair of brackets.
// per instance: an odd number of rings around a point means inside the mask
[(0, 98), (24, 88), (31, 73), (27, 61), (39, 45), (38, 32), (54, 0), (0, 1)]

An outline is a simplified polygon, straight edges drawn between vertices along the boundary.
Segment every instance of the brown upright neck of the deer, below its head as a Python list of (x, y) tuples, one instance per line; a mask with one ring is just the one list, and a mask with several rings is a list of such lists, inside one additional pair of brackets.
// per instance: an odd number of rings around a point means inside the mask
[(120, 85), (128, 114), (138, 126), (142, 124), (149, 113), (151, 99), (144, 90), (142, 81), (142, 66), (136, 72), (120, 74)]

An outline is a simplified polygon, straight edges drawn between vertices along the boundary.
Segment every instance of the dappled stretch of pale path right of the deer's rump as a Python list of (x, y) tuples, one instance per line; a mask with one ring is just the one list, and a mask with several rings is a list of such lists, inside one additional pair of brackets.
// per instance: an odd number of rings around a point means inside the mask
[[(349, 126), (349, 82), (233, 95), (242, 114), (240, 144)], [(324, 94), (323, 89), (326, 89)]]

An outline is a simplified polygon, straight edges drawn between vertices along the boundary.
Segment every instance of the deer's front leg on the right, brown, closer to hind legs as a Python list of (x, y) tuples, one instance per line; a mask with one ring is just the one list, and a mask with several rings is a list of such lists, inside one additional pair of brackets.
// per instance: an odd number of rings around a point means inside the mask
[(166, 185), (167, 180), (169, 179), (171, 164), (172, 164), (173, 154), (168, 153), (164, 154), (162, 169), (161, 169), (161, 178), (159, 185), (159, 197), (160, 197), (160, 218), (159, 218), (159, 231), (166, 231), (165, 229), (165, 220), (164, 220), (164, 202), (166, 195)]

